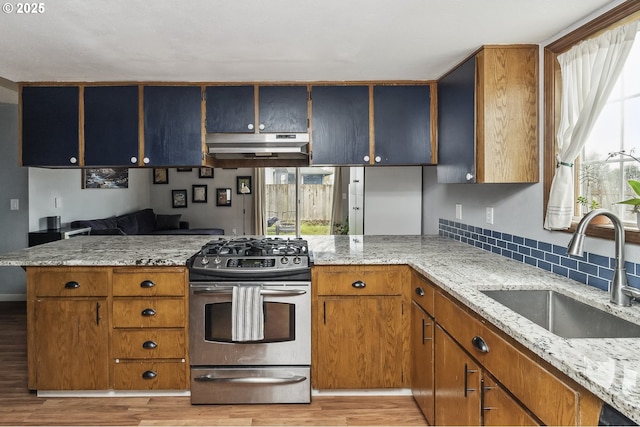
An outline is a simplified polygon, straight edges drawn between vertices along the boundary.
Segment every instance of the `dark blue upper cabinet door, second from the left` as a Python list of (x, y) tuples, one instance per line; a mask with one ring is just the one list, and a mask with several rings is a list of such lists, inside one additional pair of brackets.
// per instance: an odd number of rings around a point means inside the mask
[(84, 88), (84, 165), (137, 166), (138, 86)]

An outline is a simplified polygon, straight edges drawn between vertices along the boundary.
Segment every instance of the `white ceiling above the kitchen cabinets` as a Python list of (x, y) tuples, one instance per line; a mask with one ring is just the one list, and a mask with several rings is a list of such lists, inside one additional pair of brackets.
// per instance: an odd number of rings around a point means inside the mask
[[(0, 13), (21, 81), (431, 80), (483, 44), (542, 43), (622, 1), (40, 0)], [(3, 2), (17, 5), (17, 2)]]

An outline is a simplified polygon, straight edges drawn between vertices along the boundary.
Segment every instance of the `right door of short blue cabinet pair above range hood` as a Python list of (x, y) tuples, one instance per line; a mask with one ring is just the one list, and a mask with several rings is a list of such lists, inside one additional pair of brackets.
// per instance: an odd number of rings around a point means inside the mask
[(260, 86), (260, 132), (309, 131), (309, 91), (306, 86)]

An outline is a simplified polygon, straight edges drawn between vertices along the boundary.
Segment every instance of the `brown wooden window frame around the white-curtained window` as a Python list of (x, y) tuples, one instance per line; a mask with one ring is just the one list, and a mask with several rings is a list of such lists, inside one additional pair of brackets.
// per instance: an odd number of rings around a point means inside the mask
[[(560, 124), (562, 76), (557, 57), (582, 40), (638, 17), (640, 17), (640, 2), (628, 0), (544, 47), (543, 221), (547, 213), (551, 182), (556, 170), (556, 134)], [(560, 231), (573, 233), (576, 226), (577, 222), (573, 221), (569, 229)], [(640, 231), (627, 229), (625, 234), (628, 243), (640, 244)], [(587, 235), (613, 240), (614, 230), (610, 225), (590, 225), (587, 228)]]

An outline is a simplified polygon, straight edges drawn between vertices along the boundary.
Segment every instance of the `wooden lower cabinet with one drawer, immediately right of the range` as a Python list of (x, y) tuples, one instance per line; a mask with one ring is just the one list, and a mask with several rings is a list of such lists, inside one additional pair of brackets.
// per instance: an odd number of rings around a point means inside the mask
[(322, 266), (313, 275), (314, 387), (407, 387), (408, 268)]

